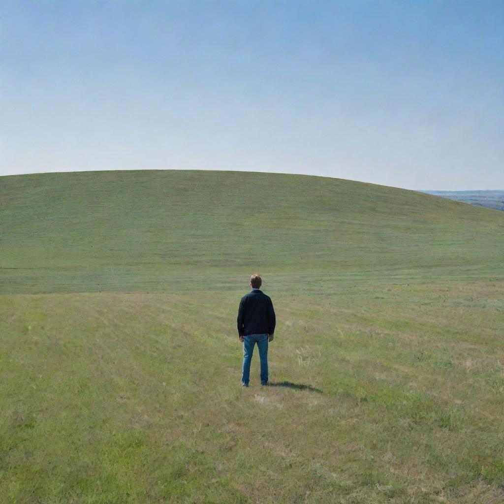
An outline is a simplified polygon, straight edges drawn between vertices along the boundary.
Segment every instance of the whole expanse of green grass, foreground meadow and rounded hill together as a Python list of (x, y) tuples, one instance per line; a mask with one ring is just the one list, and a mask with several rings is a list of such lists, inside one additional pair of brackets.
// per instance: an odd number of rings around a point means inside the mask
[(2, 504), (504, 502), (504, 213), (129, 171), (0, 177), (0, 223)]

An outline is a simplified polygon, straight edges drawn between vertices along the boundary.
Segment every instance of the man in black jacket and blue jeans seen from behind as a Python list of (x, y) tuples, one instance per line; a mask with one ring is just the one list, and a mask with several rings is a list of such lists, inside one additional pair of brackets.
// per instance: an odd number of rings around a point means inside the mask
[(250, 277), (250, 292), (240, 300), (238, 308), (238, 337), (243, 343), (243, 374), (241, 385), (248, 387), (250, 361), (257, 343), (261, 360), (261, 385), (268, 385), (268, 342), (275, 332), (275, 310), (269, 296), (261, 289), (258, 275)]

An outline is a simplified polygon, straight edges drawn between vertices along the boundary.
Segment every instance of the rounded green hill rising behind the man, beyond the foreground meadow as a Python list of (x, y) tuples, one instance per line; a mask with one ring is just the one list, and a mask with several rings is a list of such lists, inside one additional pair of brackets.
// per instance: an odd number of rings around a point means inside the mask
[(0, 292), (201, 289), (256, 270), (279, 287), (292, 272), (491, 278), (504, 244), (496, 212), (306, 175), (5, 176), (0, 202)]

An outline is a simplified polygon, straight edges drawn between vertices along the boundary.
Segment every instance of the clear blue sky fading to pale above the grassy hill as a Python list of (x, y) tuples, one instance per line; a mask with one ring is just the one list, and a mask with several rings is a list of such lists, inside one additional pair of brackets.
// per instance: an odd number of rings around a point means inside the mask
[(504, 2), (0, 0), (0, 174), (504, 189)]

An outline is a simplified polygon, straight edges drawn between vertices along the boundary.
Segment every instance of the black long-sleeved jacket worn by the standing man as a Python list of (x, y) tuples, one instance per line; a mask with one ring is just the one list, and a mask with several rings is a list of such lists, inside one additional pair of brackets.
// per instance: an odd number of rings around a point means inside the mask
[(273, 334), (275, 310), (270, 296), (261, 290), (252, 290), (244, 295), (238, 308), (238, 334)]

